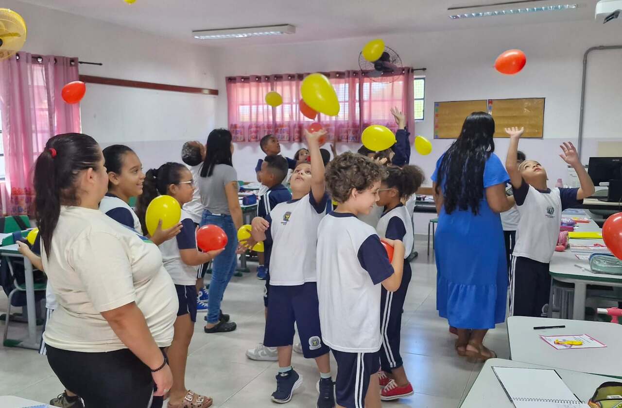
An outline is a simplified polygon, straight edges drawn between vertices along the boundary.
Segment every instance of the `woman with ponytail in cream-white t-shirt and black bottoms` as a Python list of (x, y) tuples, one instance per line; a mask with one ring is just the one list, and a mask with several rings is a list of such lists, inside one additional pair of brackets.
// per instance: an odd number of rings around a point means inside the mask
[(108, 175), (99, 145), (83, 134), (50, 138), (34, 187), (58, 301), (44, 334), (50, 367), (87, 407), (147, 407), (152, 395), (161, 404), (172, 386), (162, 348), (173, 338), (175, 286), (156, 245), (100, 211)]

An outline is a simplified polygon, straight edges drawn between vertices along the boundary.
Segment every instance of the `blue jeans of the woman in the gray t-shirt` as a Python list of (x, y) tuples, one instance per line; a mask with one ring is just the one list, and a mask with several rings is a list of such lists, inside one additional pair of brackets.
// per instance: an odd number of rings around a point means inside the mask
[(210, 299), (208, 299), (207, 322), (209, 324), (218, 323), (220, 317), (220, 303), (223, 301), (223, 294), (231, 276), (235, 273), (238, 260), (236, 250), (238, 249), (238, 231), (235, 229), (231, 215), (215, 215), (205, 210), (201, 219), (203, 225), (218, 225), (227, 234), (227, 245), (225, 250), (216, 256), (211, 262), (211, 281)]

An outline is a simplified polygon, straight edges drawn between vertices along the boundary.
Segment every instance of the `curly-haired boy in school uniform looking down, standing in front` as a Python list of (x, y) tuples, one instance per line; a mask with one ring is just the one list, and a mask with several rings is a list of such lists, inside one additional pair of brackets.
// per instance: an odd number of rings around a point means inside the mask
[(373, 227), (356, 218), (371, 211), (386, 170), (373, 160), (343, 153), (328, 163), (326, 186), (337, 209), (317, 230), (317, 292), (322, 341), (337, 360), (337, 406), (380, 406), (378, 370), (381, 286), (396, 291), (402, 281), (404, 244), (389, 258)]

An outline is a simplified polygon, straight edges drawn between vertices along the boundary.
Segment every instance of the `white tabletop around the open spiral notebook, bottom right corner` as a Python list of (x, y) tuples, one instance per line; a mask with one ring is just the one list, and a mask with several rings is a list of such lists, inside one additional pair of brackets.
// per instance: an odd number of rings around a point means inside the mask
[[(514, 408), (514, 404), (509, 400), (508, 395), (503, 391), (501, 383), (494, 375), (493, 367), (550, 368), (542, 365), (503, 360), (501, 358), (491, 358), (484, 364), (460, 408)], [(581, 401), (588, 401), (600, 384), (612, 381), (609, 377), (567, 369), (555, 369), (555, 371), (557, 371), (557, 374), (559, 374), (570, 391), (574, 392)]]

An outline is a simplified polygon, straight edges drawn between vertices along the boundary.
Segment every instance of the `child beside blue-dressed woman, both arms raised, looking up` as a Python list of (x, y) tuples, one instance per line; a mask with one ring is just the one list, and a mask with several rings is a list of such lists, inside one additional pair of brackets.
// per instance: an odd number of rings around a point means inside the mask
[(540, 163), (526, 160), (517, 165), (518, 142), (524, 128), (506, 129), (510, 142), (506, 170), (516, 207), (521, 215), (516, 231), (510, 278), (510, 314), (546, 317), (549, 307), (549, 262), (557, 245), (562, 211), (594, 193), (594, 184), (581, 165), (572, 143), (560, 145), (560, 157), (575, 171), (580, 188), (547, 188), (547, 174)]

